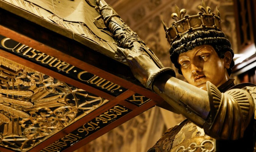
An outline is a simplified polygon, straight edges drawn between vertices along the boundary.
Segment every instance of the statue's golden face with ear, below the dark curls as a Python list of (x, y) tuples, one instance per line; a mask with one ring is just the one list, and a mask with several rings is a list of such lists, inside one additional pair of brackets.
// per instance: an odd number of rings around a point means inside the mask
[(206, 90), (207, 81), (219, 87), (229, 79), (226, 69), (231, 60), (230, 52), (222, 59), (212, 46), (202, 45), (180, 54), (178, 63), (188, 83)]

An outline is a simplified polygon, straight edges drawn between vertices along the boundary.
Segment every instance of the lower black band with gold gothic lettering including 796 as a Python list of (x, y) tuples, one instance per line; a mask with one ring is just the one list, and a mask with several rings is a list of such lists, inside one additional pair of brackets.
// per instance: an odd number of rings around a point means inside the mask
[(73, 132), (69, 133), (68, 135), (55, 141), (48, 147), (45, 147), (43, 150), (41, 150), (41, 152), (53, 152), (53, 151), (65, 150), (67, 147), (86, 138), (92, 133), (95, 133), (96, 131), (107, 126), (109, 123), (112, 123), (116, 119), (119, 119), (120, 117), (126, 115), (129, 112), (131, 112), (130, 109), (122, 105), (116, 105), (113, 108), (102, 113), (98, 117), (92, 119), (88, 123), (85, 123), (83, 126), (80, 126)]

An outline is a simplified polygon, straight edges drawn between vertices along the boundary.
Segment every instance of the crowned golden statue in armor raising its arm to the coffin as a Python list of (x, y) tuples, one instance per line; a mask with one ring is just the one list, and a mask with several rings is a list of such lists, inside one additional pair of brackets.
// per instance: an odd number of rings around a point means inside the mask
[[(198, 9), (189, 16), (176, 6), (176, 21), (169, 28), (163, 23), (171, 61), (188, 83), (175, 78), (172, 68), (159, 68), (148, 54), (116, 51), (135, 78), (187, 118), (167, 130), (148, 152), (254, 151), (256, 85), (234, 85), (229, 78), (234, 53), (221, 30), (220, 13), (212, 13), (204, 2)], [(114, 15), (104, 21), (109, 23)]]

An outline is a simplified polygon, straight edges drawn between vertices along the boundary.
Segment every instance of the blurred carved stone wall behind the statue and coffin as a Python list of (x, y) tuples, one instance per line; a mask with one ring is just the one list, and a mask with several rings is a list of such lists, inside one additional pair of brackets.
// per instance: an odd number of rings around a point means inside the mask
[[(169, 58), (169, 43), (165, 39), (162, 26), (170, 26), (175, 12), (175, 4), (180, 9), (187, 9), (186, 15), (195, 15), (199, 11), (201, 0), (105, 0), (121, 18), (153, 50), (165, 67), (174, 67)], [(221, 14), (222, 31), (237, 53), (233, 0), (205, 0), (212, 12), (216, 7)], [(175, 68), (174, 68), (175, 69)], [(181, 75), (177, 77), (184, 80)], [(76, 152), (144, 152), (152, 147), (170, 127), (180, 123), (183, 116), (154, 107), (105, 135), (88, 143)]]

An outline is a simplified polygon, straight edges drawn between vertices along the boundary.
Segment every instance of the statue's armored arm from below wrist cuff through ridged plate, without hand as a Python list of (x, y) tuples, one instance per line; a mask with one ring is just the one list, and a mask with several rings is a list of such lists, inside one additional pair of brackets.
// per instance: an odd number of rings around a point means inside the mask
[(251, 121), (254, 103), (250, 93), (231, 89), (225, 93), (207, 82), (207, 91), (168, 74), (155, 79), (154, 91), (205, 133), (214, 138), (243, 137)]

